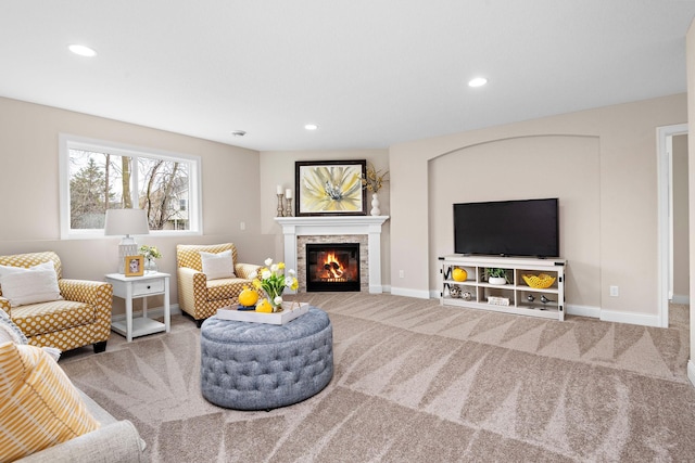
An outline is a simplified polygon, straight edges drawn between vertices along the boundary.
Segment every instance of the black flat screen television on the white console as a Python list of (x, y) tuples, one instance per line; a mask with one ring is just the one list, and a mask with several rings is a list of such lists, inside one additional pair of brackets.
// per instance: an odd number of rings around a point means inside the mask
[(559, 257), (558, 200), (454, 204), (454, 252)]

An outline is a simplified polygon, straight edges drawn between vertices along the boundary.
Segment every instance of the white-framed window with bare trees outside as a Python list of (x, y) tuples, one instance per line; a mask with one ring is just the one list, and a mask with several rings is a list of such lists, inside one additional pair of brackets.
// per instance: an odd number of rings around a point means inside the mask
[(151, 233), (200, 234), (200, 157), (60, 137), (61, 235), (103, 235), (106, 209), (140, 208)]

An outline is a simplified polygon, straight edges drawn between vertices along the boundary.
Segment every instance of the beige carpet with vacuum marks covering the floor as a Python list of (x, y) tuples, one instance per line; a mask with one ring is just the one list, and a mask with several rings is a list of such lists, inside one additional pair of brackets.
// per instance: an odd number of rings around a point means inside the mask
[(199, 331), (184, 317), (168, 335), (71, 352), (61, 364), (136, 424), (153, 462), (695, 460), (682, 327), (556, 322), (391, 295), (296, 298), (329, 313), (336, 372), (291, 407), (206, 402)]

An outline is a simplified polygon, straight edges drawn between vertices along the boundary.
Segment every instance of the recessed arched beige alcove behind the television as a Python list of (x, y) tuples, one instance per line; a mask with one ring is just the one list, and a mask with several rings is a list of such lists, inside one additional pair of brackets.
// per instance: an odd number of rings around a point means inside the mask
[(568, 305), (601, 307), (601, 146), (597, 137), (532, 136), (465, 146), (428, 165), (429, 287), (454, 250), (455, 203), (558, 197)]

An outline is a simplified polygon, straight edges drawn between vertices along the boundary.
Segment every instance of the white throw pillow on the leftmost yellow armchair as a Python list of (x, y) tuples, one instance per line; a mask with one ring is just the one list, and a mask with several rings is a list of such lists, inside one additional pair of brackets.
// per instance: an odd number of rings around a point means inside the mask
[(0, 287), (12, 307), (62, 299), (55, 268), (50, 261), (28, 269), (0, 266)]

